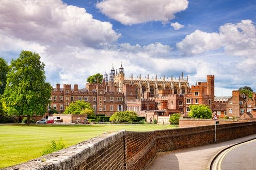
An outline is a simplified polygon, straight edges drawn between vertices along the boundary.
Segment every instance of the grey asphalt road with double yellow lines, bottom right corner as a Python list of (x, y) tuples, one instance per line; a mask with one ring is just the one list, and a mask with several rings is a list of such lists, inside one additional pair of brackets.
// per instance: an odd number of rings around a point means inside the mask
[(224, 150), (214, 161), (212, 169), (256, 169), (256, 139)]

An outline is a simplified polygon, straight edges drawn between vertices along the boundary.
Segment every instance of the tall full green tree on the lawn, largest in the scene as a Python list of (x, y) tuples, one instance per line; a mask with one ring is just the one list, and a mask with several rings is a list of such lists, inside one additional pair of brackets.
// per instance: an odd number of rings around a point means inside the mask
[(30, 116), (45, 114), (51, 91), (50, 83), (45, 82), (40, 55), (21, 51), (20, 57), (11, 61), (7, 74), (3, 101), (8, 115), (27, 116), (27, 124), (30, 124)]

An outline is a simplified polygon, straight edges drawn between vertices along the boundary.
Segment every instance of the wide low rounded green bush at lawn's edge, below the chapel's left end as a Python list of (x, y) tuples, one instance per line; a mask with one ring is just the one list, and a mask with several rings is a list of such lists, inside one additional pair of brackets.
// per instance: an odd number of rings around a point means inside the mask
[(137, 114), (134, 111), (117, 111), (109, 118), (109, 121), (117, 123), (133, 122), (135, 120), (137, 120)]

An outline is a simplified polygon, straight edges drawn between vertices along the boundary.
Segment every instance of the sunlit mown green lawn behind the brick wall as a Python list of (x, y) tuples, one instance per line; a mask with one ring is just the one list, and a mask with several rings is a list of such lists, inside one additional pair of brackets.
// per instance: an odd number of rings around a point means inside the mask
[(150, 131), (171, 125), (0, 125), (0, 168), (41, 156), (46, 143), (62, 138), (67, 146), (101, 135), (104, 131)]

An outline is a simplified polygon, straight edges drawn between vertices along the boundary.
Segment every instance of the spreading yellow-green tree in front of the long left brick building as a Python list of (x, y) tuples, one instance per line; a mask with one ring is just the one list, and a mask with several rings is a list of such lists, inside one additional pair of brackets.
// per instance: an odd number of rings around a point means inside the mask
[(89, 117), (94, 117), (94, 110), (91, 104), (84, 101), (72, 102), (63, 112), (63, 114), (82, 115), (86, 114)]

